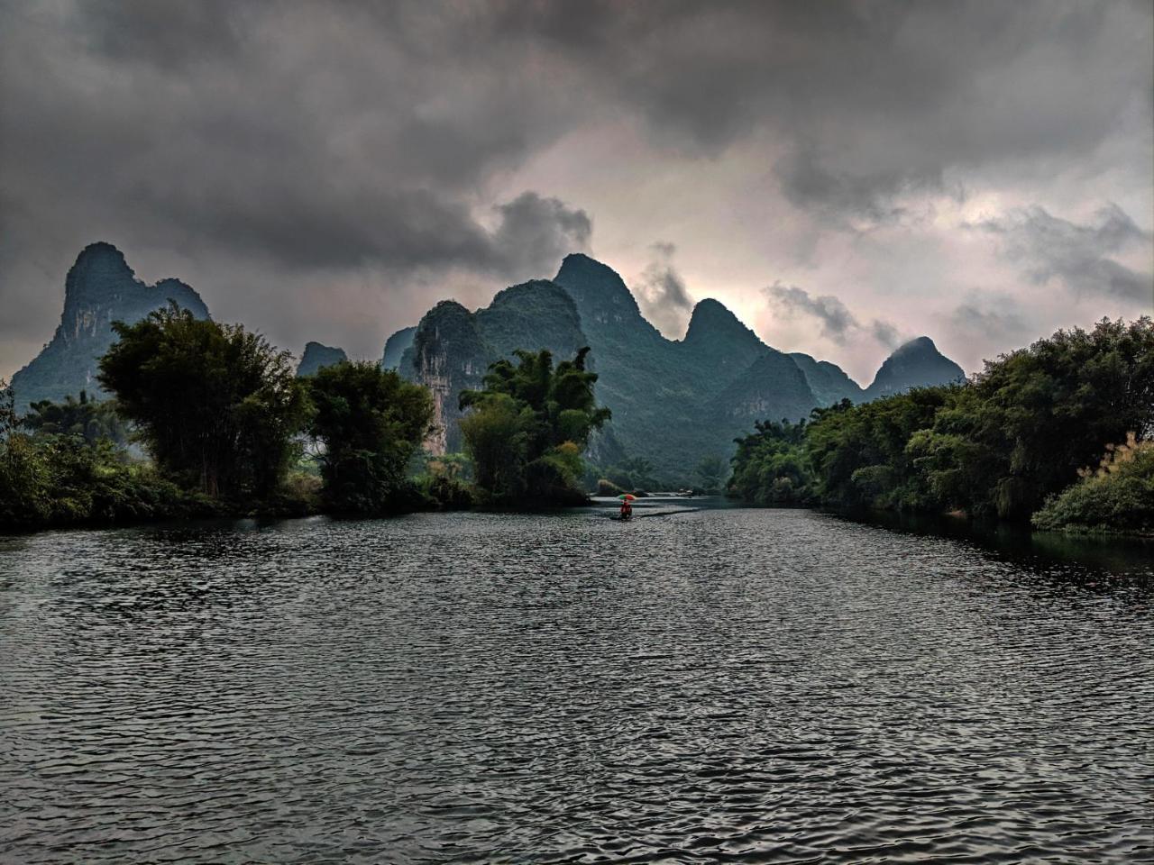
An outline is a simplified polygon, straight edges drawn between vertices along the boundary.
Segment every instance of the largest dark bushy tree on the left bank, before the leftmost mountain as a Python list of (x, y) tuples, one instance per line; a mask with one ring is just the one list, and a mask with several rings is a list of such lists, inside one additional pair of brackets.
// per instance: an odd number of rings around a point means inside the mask
[(305, 420), (288, 352), (174, 303), (113, 330), (99, 381), (162, 469), (211, 497), (276, 490)]

